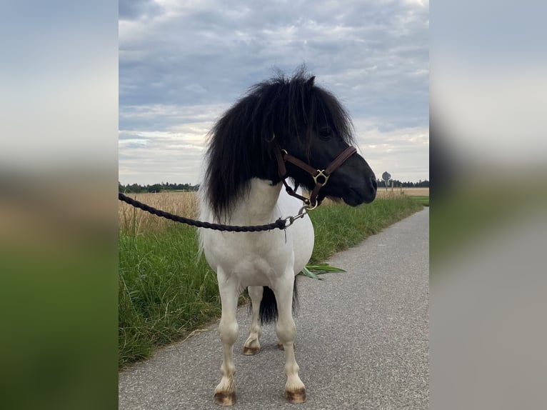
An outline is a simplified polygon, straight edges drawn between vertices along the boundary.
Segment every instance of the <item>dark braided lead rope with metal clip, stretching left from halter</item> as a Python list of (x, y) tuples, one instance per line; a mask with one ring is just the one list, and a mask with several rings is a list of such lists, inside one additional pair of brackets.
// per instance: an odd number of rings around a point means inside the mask
[(143, 211), (149, 212), (156, 216), (161, 216), (162, 218), (166, 218), (171, 221), (181, 222), (182, 224), (186, 224), (190, 226), (196, 226), (197, 228), (214, 229), (216, 231), (226, 231), (226, 232), (262, 232), (262, 231), (272, 231), (273, 229), (283, 230), (288, 228), (288, 226), (291, 226), (295, 219), (303, 217), (303, 211), (301, 210), (301, 212), (298, 212), (298, 216), (289, 216), (286, 219), (280, 218), (271, 224), (258, 225), (258, 226), (231, 226), (231, 225), (222, 225), (222, 224), (211, 224), (211, 222), (196, 221), (194, 219), (184, 218), (183, 216), (169, 214), (169, 212), (160, 211), (159, 209), (143, 204), (142, 202), (139, 202), (136, 199), (131, 199), (129, 198), (129, 196), (126, 196), (122, 194), (121, 192), (118, 193), (118, 199), (136, 208), (142, 209)]

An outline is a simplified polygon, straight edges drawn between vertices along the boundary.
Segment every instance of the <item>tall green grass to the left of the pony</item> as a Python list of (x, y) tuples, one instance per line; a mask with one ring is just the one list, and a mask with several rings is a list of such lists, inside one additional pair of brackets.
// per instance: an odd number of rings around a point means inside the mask
[(119, 365), (144, 359), (220, 314), (216, 276), (196, 231), (119, 235)]

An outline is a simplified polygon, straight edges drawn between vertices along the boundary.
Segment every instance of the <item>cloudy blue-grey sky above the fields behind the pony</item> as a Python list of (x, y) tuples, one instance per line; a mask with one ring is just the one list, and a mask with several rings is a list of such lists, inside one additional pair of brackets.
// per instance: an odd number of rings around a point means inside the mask
[(214, 121), (302, 63), (376, 176), (429, 179), (428, 29), (428, 0), (120, 0), (119, 181), (198, 183)]

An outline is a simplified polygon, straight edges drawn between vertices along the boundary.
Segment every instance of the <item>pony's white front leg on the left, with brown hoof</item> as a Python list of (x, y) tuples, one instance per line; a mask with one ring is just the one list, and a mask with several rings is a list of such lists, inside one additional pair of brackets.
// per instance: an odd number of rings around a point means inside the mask
[(231, 281), (226, 281), (224, 275), (219, 274), (219, 291), (222, 302), (222, 315), (219, 324), (219, 334), (222, 341), (222, 378), (215, 389), (215, 403), (220, 406), (232, 406), (236, 403), (236, 366), (234, 366), (234, 344), (238, 334), (236, 309), (238, 288)]

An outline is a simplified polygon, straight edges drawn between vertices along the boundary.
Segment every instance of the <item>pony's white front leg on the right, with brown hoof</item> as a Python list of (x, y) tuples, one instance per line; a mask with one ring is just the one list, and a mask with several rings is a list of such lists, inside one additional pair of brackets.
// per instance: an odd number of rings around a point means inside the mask
[(294, 357), (294, 337), (296, 325), (293, 320), (293, 284), (294, 275), (291, 273), (286, 279), (277, 284), (274, 293), (277, 300), (278, 319), (276, 324), (277, 337), (285, 350), (285, 399), (291, 403), (306, 401), (306, 387), (298, 376), (300, 368)]

